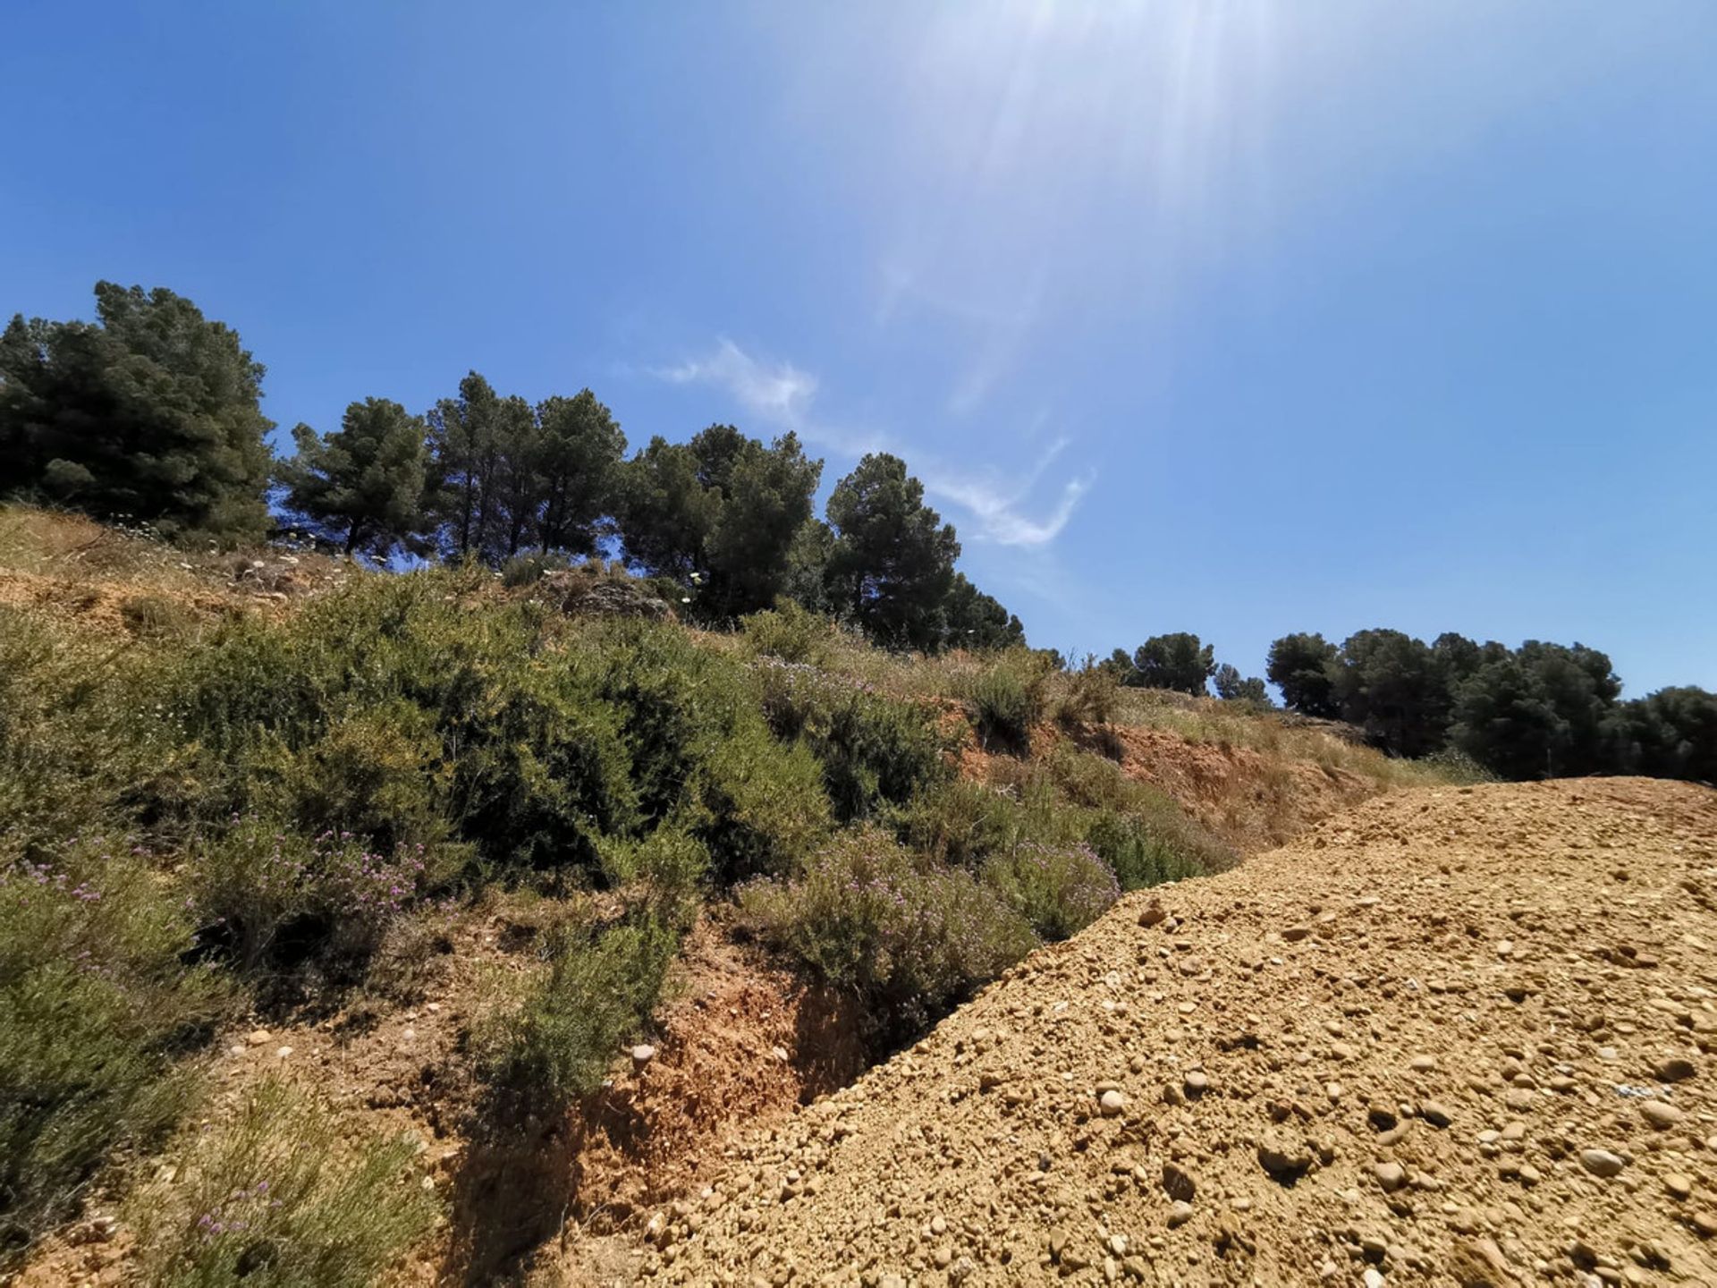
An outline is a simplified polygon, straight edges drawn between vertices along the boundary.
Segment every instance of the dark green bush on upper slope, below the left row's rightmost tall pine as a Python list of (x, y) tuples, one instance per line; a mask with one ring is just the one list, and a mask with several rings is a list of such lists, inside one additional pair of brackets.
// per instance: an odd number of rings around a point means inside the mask
[(841, 823), (905, 805), (953, 775), (934, 709), (805, 666), (764, 665), (759, 675), (769, 726), (812, 750)]

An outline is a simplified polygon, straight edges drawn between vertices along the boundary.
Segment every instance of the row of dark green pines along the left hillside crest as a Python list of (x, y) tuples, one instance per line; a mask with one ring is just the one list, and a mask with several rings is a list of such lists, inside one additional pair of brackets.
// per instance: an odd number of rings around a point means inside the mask
[[(960, 539), (900, 457), (872, 453), (816, 515), (822, 462), (730, 424), (627, 455), (585, 388), (531, 402), (472, 371), (422, 412), (362, 398), (299, 424), (276, 459), (264, 368), (167, 289), (96, 285), (96, 321), (15, 316), (0, 335), (0, 489), (170, 539), (259, 541), (282, 522), (347, 555), (503, 567), (615, 553), (731, 620), (793, 599), (889, 647), (1020, 644), (955, 562)], [(271, 505), (273, 501), (273, 505)]]

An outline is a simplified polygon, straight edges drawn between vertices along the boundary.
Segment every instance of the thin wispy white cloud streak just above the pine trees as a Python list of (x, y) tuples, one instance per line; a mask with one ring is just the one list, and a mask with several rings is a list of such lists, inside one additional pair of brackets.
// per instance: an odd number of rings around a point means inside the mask
[(1034, 515), (1025, 507), (1051, 462), (1068, 447), (1066, 438), (1054, 440), (1032, 469), (1011, 481), (994, 471), (970, 474), (950, 469), (919, 448), (908, 457), (886, 434), (845, 429), (816, 416), (812, 404), (817, 397), (817, 378), (809, 371), (800, 371), (792, 362), (759, 361), (725, 337), (709, 354), (654, 368), (652, 374), (671, 385), (709, 385), (725, 390), (740, 407), (773, 428), (792, 429), (807, 441), (848, 457), (865, 452), (893, 452), (905, 457), (924, 481), (927, 493), (958, 505), (975, 520), (975, 531), (972, 524), (967, 524), (967, 529), (979, 541), (994, 541), (1001, 546), (1046, 546), (1066, 527), (1092, 484), (1090, 476), (1068, 479), (1061, 484), (1054, 507), (1047, 513)]

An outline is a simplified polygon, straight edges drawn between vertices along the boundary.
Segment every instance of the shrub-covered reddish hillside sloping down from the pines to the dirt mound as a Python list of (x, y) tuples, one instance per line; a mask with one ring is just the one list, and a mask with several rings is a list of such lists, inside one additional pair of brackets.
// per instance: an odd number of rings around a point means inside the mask
[(0, 510), (5, 1269), (623, 1281), (733, 1132), (1118, 888), (1442, 781), (1023, 651), (611, 617), (649, 592)]

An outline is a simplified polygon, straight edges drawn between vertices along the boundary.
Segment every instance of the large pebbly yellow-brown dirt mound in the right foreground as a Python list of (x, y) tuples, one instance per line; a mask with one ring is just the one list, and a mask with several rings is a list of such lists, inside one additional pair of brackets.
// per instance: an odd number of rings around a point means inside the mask
[(1417, 790), (1123, 900), (661, 1214), (671, 1283), (1717, 1283), (1717, 795)]

